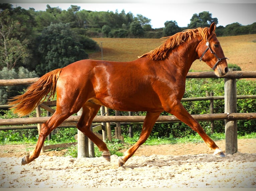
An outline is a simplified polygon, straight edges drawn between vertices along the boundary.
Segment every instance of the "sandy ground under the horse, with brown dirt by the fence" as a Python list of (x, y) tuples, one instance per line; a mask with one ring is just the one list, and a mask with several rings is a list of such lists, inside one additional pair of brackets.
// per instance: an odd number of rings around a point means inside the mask
[[(216, 143), (225, 148), (224, 141)], [(21, 157), (13, 155), (23, 156), (27, 151), (22, 150), (23, 147), (16, 152), (14, 145), (7, 145), (10, 152), (5, 151), (5, 154), (12, 154), (12, 157), (0, 158), (0, 187), (256, 188), (255, 143), (256, 139), (239, 139), (240, 152), (227, 154), (224, 158), (202, 154), (208, 150), (205, 143), (142, 145), (135, 154), (140, 156), (131, 157), (123, 167), (117, 166), (116, 155), (111, 156), (111, 162), (103, 157), (54, 156), (65, 151), (42, 153), (31, 163), (21, 166)], [(3, 148), (2, 145), (1, 153)]]

